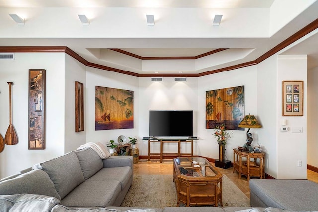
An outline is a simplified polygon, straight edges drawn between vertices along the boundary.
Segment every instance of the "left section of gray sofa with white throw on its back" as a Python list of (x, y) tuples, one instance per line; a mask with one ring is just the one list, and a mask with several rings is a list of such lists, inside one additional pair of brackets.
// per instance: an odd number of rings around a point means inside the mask
[(33, 166), (0, 182), (0, 195), (36, 194), (67, 207), (120, 206), (133, 181), (133, 158), (101, 159), (89, 147)]

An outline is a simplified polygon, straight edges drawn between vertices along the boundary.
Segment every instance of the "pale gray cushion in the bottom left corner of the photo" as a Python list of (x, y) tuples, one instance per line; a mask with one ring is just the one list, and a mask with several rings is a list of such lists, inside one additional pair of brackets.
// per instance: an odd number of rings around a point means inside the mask
[(51, 212), (57, 204), (60, 204), (58, 199), (45, 195), (0, 195), (1, 212)]

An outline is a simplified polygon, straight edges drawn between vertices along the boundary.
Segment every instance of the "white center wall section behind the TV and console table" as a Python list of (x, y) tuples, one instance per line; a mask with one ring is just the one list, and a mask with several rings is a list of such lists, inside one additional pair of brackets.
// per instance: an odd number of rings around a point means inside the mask
[[(186, 82), (174, 82), (174, 78), (165, 77), (162, 82), (151, 82), (150, 78), (139, 78), (139, 131), (142, 138), (149, 136), (150, 110), (193, 110), (193, 135), (198, 134), (198, 78), (188, 77)], [(205, 108), (205, 107), (204, 107)], [(198, 143), (194, 141), (193, 153), (198, 153)], [(160, 145), (151, 145), (152, 153), (160, 152)], [(177, 152), (177, 145), (168, 143), (164, 152)], [(181, 152), (191, 152), (190, 145), (181, 146)], [(148, 141), (139, 142), (139, 154), (148, 155)]]

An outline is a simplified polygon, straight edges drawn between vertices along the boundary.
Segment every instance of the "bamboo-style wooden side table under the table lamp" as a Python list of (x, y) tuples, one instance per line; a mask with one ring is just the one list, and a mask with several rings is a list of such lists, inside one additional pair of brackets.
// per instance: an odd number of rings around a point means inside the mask
[(233, 172), (239, 172), (239, 178), (242, 175), (247, 177), (265, 178), (265, 153), (249, 153), (233, 149)]

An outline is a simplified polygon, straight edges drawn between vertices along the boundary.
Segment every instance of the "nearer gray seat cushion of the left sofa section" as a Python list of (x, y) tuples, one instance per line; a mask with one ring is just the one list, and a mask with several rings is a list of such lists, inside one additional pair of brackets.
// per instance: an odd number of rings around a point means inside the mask
[(86, 180), (62, 199), (62, 205), (69, 207), (111, 206), (120, 191), (119, 181), (105, 180), (100, 182)]

